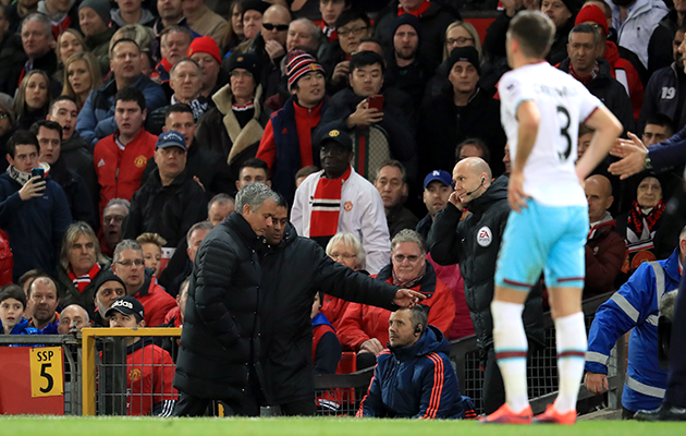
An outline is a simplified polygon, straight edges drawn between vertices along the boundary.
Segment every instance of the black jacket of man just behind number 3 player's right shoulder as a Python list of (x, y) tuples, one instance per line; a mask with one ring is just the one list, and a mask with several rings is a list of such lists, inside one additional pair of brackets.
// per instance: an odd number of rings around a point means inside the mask
[[(624, 86), (610, 74), (610, 63), (603, 58), (598, 58), (598, 75), (586, 83), (586, 88), (600, 99), (624, 125), (624, 132), (634, 131), (634, 110), (632, 100)], [(565, 73), (569, 72), (569, 58), (566, 58), (558, 66)]]

